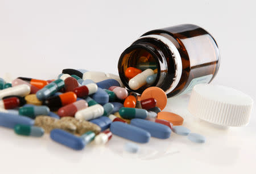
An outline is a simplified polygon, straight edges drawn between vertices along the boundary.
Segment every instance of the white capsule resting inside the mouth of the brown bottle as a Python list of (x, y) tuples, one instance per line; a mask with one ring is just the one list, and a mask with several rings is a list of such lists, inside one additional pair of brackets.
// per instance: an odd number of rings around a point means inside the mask
[(129, 87), (132, 90), (138, 90), (138, 88), (147, 84), (146, 79), (148, 76), (153, 75), (154, 71), (152, 69), (146, 69), (142, 73), (139, 73), (134, 78), (129, 80)]

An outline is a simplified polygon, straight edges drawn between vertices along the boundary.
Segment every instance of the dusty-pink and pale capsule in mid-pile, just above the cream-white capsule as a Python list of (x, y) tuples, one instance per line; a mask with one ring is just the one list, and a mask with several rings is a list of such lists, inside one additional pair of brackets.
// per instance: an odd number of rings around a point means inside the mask
[(58, 110), (60, 117), (73, 117), (77, 111), (88, 107), (88, 103), (85, 100), (75, 101), (74, 103), (65, 105)]

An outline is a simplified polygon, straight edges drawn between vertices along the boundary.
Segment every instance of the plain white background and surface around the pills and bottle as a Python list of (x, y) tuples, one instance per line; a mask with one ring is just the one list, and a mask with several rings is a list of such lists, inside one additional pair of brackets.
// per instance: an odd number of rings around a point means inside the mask
[[(3, 1), (0, 0), (0, 77), (54, 79), (64, 68), (117, 74), (122, 51), (144, 32), (197, 24), (216, 39), (221, 66), (214, 84), (256, 99), (253, 1)], [(123, 152), (125, 139), (82, 151), (0, 128), (0, 173), (256, 173), (255, 104), (245, 128), (221, 129), (195, 120), (189, 96), (168, 100), (166, 111), (207, 138), (204, 145), (172, 134)]]

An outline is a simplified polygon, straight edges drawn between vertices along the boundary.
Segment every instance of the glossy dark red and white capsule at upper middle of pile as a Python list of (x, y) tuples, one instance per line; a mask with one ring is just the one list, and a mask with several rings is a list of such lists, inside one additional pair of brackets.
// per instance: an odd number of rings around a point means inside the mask
[(85, 86), (76, 87), (73, 92), (77, 97), (85, 97), (97, 92), (98, 86), (95, 83), (86, 84)]

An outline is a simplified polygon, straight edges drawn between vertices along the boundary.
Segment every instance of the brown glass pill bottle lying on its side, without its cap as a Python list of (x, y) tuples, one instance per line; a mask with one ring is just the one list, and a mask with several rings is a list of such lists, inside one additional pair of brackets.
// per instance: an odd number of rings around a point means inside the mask
[(219, 66), (216, 41), (203, 28), (193, 24), (144, 33), (121, 54), (118, 61), (119, 76), (129, 90), (130, 79), (125, 76), (128, 67), (141, 67), (142, 71), (157, 69), (154, 83), (131, 91), (142, 94), (147, 87), (156, 86), (162, 88), (168, 97), (186, 94), (196, 84), (209, 83)]

